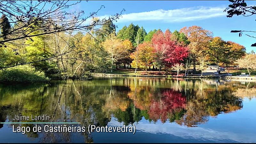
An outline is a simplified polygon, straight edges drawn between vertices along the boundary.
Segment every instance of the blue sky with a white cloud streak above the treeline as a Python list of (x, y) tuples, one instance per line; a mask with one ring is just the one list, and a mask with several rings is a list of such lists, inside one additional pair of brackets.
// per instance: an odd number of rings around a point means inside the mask
[[(116, 31), (131, 22), (134, 25), (143, 26), (147, 32), (153, 29), (171, 31), (180, 30), (185, 26), (201, 26), (213, 32), (214, 36), (220, 36), (225, 41), (234, 41), (246, 47), (246, 52), (256, 51), (251, 44), (254, 38), (238, 37), (238, 33), (230, 33), (231, 30), (255, 30), (256, 16), (234, 16), (227, 18), (224, 9), (231, 4), (227, 1), (88, 1), (76, 6), (85, 13), (96, 11), (101, 5), (105, 8), (97, 14), (100, 18), (108, 17), (125, 9), (123, 17), (115, 24)], [(247, 5), (255, 5), (255, 1), (247, 1)], [(254, 27), (254, 28), (253, 28)]]

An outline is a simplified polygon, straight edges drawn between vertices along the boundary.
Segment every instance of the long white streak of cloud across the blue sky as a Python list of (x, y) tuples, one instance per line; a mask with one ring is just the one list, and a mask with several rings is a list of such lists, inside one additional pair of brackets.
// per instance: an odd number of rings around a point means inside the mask
[[(220, 17), (227, 15), (223, 12), (225, 7), (192, 7), (174, 10), (154, 10), (149, 12), (137, 12), (123, 14), (117, 22), (133, 22), (133, 21), (164, 21), (164, 22), (185, 22), (193, 20), (203, 20), (208, 18)], [(100, 18), (106, 18), (100, 16)]]

